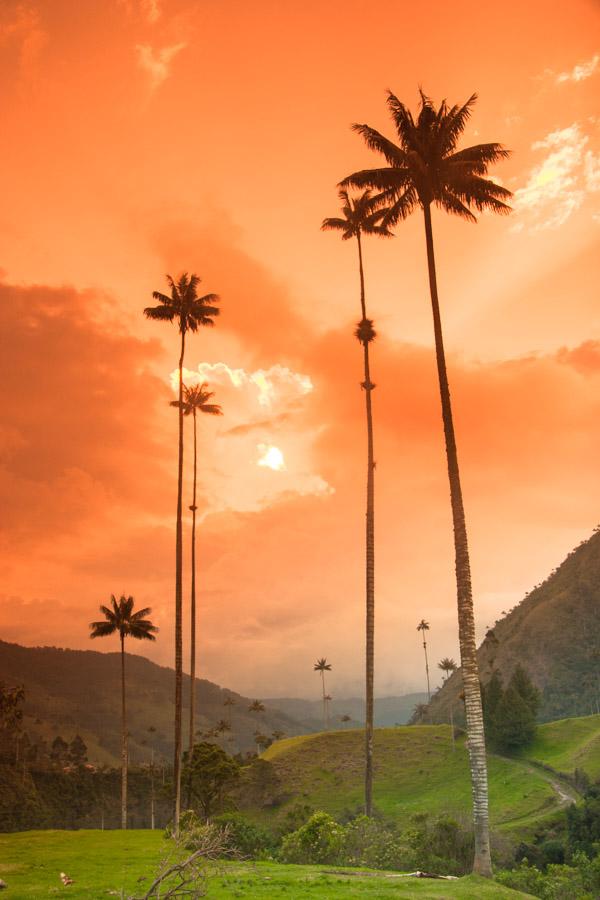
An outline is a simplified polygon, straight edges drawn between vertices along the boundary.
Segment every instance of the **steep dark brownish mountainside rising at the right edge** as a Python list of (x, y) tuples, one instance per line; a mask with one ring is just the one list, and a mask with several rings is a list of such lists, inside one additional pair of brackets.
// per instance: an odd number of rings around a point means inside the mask
[[(481, 679), (505, 681), (518, 663), (542, 694), (540, 721), (600, 713), (600, 531), (504, 618), (478, 650)], [(428, 722), (464, 718), (460, 669), (432, 697)]]

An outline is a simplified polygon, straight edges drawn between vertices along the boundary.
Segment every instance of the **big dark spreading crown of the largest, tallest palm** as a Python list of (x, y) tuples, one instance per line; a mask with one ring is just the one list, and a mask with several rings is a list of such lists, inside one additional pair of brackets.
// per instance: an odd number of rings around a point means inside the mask
[(368, 206), (371, 211), (386, 208), (379, 220), (384, 228), (405, 219), (418, 205), (426, 207), (431, 203), (472, 222), (476, 221), (472, 207), (479, 212), (510, 212), (505, 201), (511, 192), (483, 177), (488, 166), (505, 159), (509, 151), (497, 143), (456, 150), (477, 95), (473, 94), (462, 106), (448, 107), (443, 100), (436, 109), (430, 98), (423, 91), (420, 93), (421, 108), (415, 120), (410, 110), (388, 91), (387, 104), (398, 144), (369, 125), (352, 126), (388, 165), (355, 172), (344, 178), (341, 186), (376, 189), (379, 193), (368, 201)]

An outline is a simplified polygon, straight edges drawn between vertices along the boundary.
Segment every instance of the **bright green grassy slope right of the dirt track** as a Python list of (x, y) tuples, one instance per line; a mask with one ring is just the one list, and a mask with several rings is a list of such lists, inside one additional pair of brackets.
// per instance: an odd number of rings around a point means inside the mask
[(590, 778), (600, 777), (600, 716), (559, 719), (540, 725), (536, 738), (523, 751), (524, 758), (572, 774), (584, 769)]

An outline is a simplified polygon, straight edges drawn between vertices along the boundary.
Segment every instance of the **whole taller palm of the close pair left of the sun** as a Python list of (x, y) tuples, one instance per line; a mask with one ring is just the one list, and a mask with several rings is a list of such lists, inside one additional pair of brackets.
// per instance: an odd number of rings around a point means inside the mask
[(219, 315), (216, 303), (217, 294), (198, 296), (200, 278), (184, 272), (177, 281), (167, 275), (167, 284), (171, 289), (170, 296), (160, 291), (153, 291), (152, 297), (158, 300), (158, 306), (147, 306), (144, 315), (159, 322), (176, 322), (179, 327), (181, 346), (179, 352), (179, 442), (177, 463), (177, 524), (175, 530), (175, 723), (174, 723), (174, 757), (173, 781), (175, 785), (173, 824), (175, 833), (179, 829), (181, 808), (181, 712), (183, 683), (183, 359), (185, 356), (185, 336), (188, 331), (196, 332), (201, 326), (213, 326), (215, 317)]

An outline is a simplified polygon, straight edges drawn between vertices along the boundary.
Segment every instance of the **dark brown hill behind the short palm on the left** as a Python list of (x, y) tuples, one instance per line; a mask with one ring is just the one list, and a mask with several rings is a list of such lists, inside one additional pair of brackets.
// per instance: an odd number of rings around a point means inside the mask
[[(70, 740), (79, 733), (92, 762), (119, 764), (120, 677), (118, 653), (22, 647), (0, 641), (0, 681), (25, 686), (25, 730), (46, 739), (60, 734)], [(127, 654), (127, 685), (132, 763), (148, 760), (151, 740), (158, 756), (170, 759), (173, 670)], [(189, 678), (184, 676), (184, 703), (188, 691)], [(233, 707), (224, 707), (226, 696), (236, 701)], [(304, 725), (276, 709), (267, 708), (257, 717), (248, 712), (248, 697), (204, 679), (196, 680), (196, 697), (198, 729), (209, 728), (220, 719), (231, 721), (232, 732), (225, 742), (230, 753), (254, 749), (257, 727), (267, 735), (275, 730), (290, 735), (306, 731)], [(156, 728), (153, 735), (150, 726)]]

